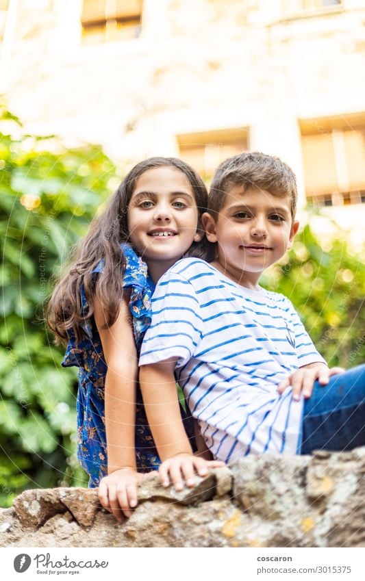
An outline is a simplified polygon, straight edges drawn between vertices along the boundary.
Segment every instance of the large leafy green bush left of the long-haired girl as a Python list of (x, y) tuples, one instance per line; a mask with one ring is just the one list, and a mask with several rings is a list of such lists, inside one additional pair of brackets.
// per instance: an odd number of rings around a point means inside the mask
[[(0, 503), (31, 487), (86, 485), (75, 459), (77, 370), (62, 369), (42, 305), (68, 250), (108, 194), (99, 146), (25, 135), (0, 109)], [(54, 152), (54, 153), (53, 153)]]

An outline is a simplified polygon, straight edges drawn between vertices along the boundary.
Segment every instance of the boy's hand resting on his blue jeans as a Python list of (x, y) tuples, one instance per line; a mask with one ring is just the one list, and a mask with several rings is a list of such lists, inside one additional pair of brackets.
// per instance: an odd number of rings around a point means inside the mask
[(281, 381), (277, 387), (277, 391), (283, 393), (283, 391), (291, 385), (292, 397), (295, 401), (300, 400), (301, 393), (303, 393), (305, 398), (310, 398), (316, 380), (319, 381), (320, 385), (327, 385), (329, 378), (332, 375), (337, 375), (343, 372), (344, 370), (342, 367), (332, 367), (329, 369), (325, 363), (311, 363), (310, 365), (304, 365)]

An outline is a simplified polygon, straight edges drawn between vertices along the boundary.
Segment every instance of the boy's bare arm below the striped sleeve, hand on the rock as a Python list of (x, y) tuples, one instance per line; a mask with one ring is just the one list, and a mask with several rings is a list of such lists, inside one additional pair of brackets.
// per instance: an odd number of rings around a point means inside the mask
[(181, 419), (174, 375), (175, 360), (142, 365), (140, 388), (149, 426), (162, 460), (160, 480), (177, 491), (194, 486), (194, 474), (206, 476), (207, 467), (223, 465), (194, 456)]

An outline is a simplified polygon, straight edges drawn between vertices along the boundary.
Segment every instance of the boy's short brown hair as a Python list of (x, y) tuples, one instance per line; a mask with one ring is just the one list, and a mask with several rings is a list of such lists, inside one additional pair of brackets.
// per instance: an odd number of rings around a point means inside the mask
[(297, 209), (297, 179), (279, 157), (251, 151), (229, 157), (218, 166), (208, 196), (208, 211), (212, 216), (216, 217), (221, 211), (227, 190), (232, 185), (242, 185), (244, 190), (266, 190), (278, 198), (288, 196), (294, 218)]

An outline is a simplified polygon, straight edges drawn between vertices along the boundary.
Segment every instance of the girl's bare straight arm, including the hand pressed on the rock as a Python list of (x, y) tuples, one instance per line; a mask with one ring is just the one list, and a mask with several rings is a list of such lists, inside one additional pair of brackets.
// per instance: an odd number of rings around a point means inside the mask
[(105, 326), (103, 305), (95, 298), (95, 322), (108, 371), (105, 377), (105, 430), (108, 476), (99, 485), (99, 500), (119, 521), (137, 505), (135, 424), (138, 359), (127, 299), (121, 301), (116, 322)]

